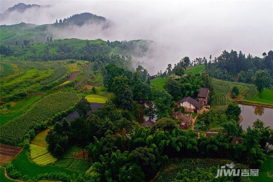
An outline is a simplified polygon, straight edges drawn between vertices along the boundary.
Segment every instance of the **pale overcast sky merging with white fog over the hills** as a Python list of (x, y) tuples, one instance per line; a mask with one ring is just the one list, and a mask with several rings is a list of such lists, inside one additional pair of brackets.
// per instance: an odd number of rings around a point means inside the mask
[[(182, 57), (217, 57), (223, 50), (260, 56), (273, 49), (273, 1), (3, 1), (1, 13), (25, 4), (52, 8), (12, 15), (1, 24), (20, 21), (55, 22), (75, 13), (90, 12), (114, 22), (107, 33), (85, 27), (67, 38), (104, 40), (148, 39), (157, 42), (156, 59), (143, 61), (165, 69)], [(67, 32), (66, 32), (67, 33)], [(64, 36), (68, 36), (64, 33)]]

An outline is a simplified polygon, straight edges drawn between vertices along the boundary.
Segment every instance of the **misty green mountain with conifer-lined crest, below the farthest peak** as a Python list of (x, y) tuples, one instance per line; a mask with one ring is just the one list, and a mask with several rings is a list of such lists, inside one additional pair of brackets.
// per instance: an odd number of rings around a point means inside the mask
[(83, 25), (89, 31), (92, 29), (103, 31), (110, 27), (111, 22), (103, 16), (84, 12), (59, 21), (56, 19), (53, 24), (34, 25), (21, 22), (15, 25), (5, 25), (1, 27), (1, 43), (15, 45), (16, 42), (22, 44), (24, 40), (29, 40), (31, 44), (37, 44), (45, 43), (47, 37), (53, 39), (72, 38), (74, 35), (71, 30), (79, 30)]

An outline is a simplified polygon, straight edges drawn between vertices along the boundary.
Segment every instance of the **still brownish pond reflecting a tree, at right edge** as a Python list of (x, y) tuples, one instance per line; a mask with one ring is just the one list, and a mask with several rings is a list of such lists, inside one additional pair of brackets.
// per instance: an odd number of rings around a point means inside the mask
[(273, 129), (273, 108), (241, 103), (239, 106), (241, 107), (241, 115), (243, 116), (243, 120), (240, 123), (243, 130), (246, 130), (248, 126), (252, 127), (253, 122), (257, 119), (264, 122), (264, 126), (270, 126)]

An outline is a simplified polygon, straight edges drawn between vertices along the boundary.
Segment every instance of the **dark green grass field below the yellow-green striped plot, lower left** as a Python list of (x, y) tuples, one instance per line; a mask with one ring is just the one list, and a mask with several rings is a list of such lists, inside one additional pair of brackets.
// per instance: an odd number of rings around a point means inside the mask
[(78, 171), (72, 171), (63, 167), (46, 165), (39, 166), (35, 163), (32, 163), (27, 156), (27, 152), (24, 150), (13, 162), (12, 164), (15, 166), (17, 170), (19, 170), (22, 174), (28, 175), (29, 177), (38, 177), (39, 174), (45, 173), (55, 173), (55, 172), (64, 172), (72, 177), (73, 174), (76, 177), (80, 174)]

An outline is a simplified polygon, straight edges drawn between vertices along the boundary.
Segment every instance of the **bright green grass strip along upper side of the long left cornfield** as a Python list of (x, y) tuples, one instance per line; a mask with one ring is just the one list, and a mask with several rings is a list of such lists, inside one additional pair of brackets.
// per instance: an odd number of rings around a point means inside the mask
[(0, 113), (0, 125), (7, 123), (10, 120), (22, 115), (24, 112), (30, 109), (41, 96), (32, 96), (22, 99), (15, 103), (15, 106), (11, 107), (8, 113)]

